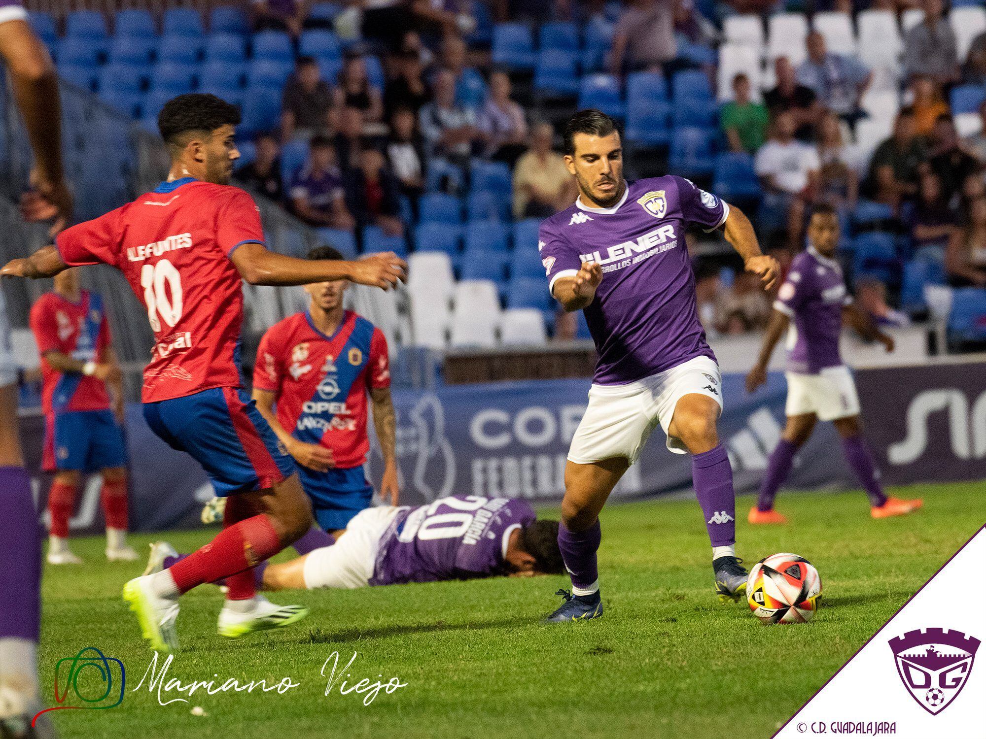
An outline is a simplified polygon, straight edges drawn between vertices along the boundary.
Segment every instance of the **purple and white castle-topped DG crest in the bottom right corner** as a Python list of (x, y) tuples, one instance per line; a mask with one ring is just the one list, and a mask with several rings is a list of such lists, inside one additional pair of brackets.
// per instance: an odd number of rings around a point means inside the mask
[(929, 713), (938, 714), (965, 687), (980, 642), (949, 629), (922, 629), (888, 643), (911, 698)]

